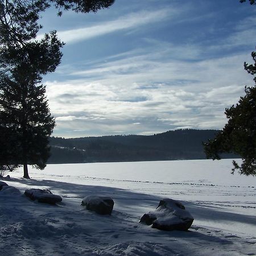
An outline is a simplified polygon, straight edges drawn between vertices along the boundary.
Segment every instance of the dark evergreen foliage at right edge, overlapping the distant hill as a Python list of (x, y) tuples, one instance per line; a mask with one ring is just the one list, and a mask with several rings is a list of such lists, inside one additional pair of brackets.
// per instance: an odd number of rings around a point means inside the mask
[[(254, 64), (245, 63), (245, 69), (251, 75), (256, 74), (256, 52), (252, 52)], [(254, 77), (256, 84), (256, 77)], [(242, 158), (242, 164), (233, 160), (235, 170), (240, 174), (256, 175), (256, 86), (246, 87), (246, 95), (240, 98), (236, 106), (226, 109), (229, 119), (216, 138), (204, 143), (207, 158), (221, 159), (220, 154), (233, 152)]]

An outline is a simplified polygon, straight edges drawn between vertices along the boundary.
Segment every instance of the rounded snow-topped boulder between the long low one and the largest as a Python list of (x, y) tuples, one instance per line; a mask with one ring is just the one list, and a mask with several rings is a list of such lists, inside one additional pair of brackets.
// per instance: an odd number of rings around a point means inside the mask
[(114, 207), (114, 201), (108, 196), (86, 196), (81, 205), (98, 214), (110, 215)]

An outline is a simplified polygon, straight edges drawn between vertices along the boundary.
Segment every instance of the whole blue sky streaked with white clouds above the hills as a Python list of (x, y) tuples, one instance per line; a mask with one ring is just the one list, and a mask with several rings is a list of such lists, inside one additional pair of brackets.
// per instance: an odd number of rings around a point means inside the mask
[[(256, 7), (239, 0), (116, 0), (95, 13), (42, 14), (63, 59), (44, 77), (54, 136), (222, 129), (253, 77)], [(39, 35), (40, 36), (40, 35)]]

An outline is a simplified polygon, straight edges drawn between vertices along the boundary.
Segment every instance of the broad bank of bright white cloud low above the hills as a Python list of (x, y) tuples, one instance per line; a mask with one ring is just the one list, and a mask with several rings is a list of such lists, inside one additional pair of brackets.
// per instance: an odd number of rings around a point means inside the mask
[[(142, 68), (131, 73), (107, 72), (113, 66), (127, 67), (125, 60), (114, 60), (100, 65), (106, 71), (103, 76), (98, 76), (98, 68), (89, 71), (92, 80), (94, 76), (98, 79), (94, 82), (82, 76), (48, 82), (49, 106), (59, 127), (55, 134), (61, 132), (61, 127), (81, 135), (101, 135), (102, 131), (147, 134), (177, 127), (221, 128), (226, 122), (225, 108), (239, 100), (244, 81), (251, 82), (242, 69), (244, 57), (196, 61), (191, 65), (179, 60), (152, 61), (151, 55), (133, 56), (129, 65), (135, 63)], [(151, 61), (150, 71), (143, 68)], [(62, 122), (63, 118), (71, 118), (70, 123)]]

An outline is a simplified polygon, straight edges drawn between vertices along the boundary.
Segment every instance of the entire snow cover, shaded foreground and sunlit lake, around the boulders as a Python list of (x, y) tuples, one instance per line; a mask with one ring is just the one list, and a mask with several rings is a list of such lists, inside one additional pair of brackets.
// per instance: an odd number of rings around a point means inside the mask
[[(230, 174), (232, 160), (48, 165), (4, 180), (0, 255), (256, 255), (256, 177)], [(57, 206), (31, 201), (27, 188), (49, 188)], [(81, 207), (85, 196), (114, 199), (112, 216)], [(195, 218), (189, 232), (139, 224), (163, 197)]]

